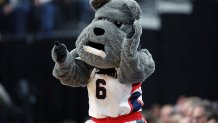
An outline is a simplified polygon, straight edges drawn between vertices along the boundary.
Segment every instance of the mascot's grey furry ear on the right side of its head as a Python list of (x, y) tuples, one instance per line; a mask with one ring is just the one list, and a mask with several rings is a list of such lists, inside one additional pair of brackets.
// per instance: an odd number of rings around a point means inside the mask
[(139, 20), (142, 13), (139, 4), (135, 0), (126, 0), (125, 5), (132, 13), (132, 17), (136, 20)]

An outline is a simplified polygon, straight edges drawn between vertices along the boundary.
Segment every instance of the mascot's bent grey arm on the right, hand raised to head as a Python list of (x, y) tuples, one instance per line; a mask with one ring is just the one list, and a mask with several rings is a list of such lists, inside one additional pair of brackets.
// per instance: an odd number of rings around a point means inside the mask
[(138, 83), (148, 78), (155, 69), (151, 54), (146, 49), (137, 50), (142, 33), (138, 21), (133, 24), (134, 34), (124, 40), (121, 50), (121, 62), (118, 79), (121, 83)]

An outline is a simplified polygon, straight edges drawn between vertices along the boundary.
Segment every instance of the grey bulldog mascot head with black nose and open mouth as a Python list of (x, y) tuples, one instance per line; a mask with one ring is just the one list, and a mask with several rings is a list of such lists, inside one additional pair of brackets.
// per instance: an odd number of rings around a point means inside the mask
[(95, 18), (76, 41), (78, 55), (97, 68), (118, 67), (122, 43), (135, 33), (133, 24), (140, 18), (141, 9), (134, 0), (90, 0), (90, 4)]

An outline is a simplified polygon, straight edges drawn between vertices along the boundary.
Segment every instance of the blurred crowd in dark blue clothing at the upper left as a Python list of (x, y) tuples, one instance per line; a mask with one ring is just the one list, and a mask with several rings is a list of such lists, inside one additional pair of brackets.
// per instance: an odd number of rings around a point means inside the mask
[(85, 26), (91, 14), (89, 0), (0, 0), (0, 35), (50, 38), (56, 30)]

